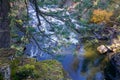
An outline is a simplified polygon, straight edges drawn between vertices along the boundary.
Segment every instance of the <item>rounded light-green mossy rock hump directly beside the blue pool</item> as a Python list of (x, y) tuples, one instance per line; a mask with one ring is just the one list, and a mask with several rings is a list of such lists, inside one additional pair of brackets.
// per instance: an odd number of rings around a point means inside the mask
[(56, 60), (46, 60), (37, 62), (36, 69), (39, 70), (39, 80), (63, 80), (63, 69), (61, 64)]

